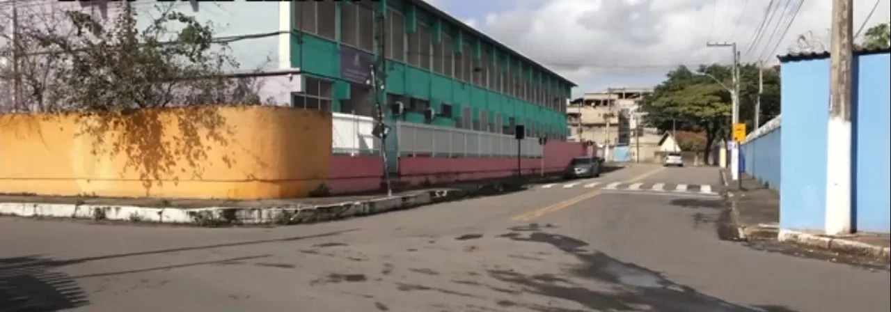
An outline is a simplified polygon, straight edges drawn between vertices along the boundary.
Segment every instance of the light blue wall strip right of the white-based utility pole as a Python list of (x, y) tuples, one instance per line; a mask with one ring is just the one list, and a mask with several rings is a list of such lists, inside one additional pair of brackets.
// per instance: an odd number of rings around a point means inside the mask
[(862, 55), (855, 75), (854, 226), (891, 232), (891, 54)]

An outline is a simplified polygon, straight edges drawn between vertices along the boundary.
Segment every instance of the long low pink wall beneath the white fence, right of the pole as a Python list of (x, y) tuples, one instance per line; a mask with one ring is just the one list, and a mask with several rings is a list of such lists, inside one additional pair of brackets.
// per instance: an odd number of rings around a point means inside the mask
[[(575, 142), (551, 142), (544, 145), (542, 159), (523, 159), (520, 166), (524, 175), (556, 172), (567, 167), (569, 160), (584, 156), (584, 146)], [(517, 172), (515, 158), (401, 158), (399, 174), (405, 182), (420, 184), (472, 181), (510, 177)]]

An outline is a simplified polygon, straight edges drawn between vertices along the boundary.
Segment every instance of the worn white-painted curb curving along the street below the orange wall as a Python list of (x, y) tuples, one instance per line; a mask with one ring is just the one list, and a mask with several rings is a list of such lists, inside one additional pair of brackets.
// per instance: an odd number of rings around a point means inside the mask
[(495, 185), (463, 191), (443, 189), (408, 195), (379, 197), (362, 201), (342, 201), (322, 205), (265, 207), (208, 207), (200, 209), (57, 204), (39, 202), (0, 202), (0, 216), (21, 218), (76, 218), (95, 221), (150, 222), (187, 226), (285, 226), (362, 217), (388, 211), (412, 209), (445, 201), (458, 201), (478, 195), (513, 191)]

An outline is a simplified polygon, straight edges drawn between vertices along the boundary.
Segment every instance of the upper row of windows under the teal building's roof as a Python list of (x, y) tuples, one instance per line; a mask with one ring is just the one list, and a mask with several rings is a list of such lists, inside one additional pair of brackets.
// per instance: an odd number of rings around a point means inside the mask
[[(337, 19), (335, 2), (295, 2), (300, 20), (295, 23), (298, 29), (337, 40)], [(340, 43), (365, 51), (374, 50), (374, 12), (372, 4), (341, 3)], [(388, 59), (431, 70), (437, 74), (462, 80), (487, 89), (508, 94), (529, 103), (536, 103), (554, 111), (566, 111), (566, 101), (560, 92), (533, 83), (544, 77), (536, 73), (532, 80), (527, 72), (520, 73), (513, 68), (503, 69), (490, 62), (489, 51), (482, 51), (478, 59), (473, 58), (470, 40), (455, 42), (451, 36), (443, 34), (442, 41), (434, 45), (432, 28), (418, 23), (417, 31), (405, 34), (405, 16), (392, 9), (386, 20), (386, 42), (384, 51)], [(462, 46), (462, 53), (455, 53), (455, 47)]]

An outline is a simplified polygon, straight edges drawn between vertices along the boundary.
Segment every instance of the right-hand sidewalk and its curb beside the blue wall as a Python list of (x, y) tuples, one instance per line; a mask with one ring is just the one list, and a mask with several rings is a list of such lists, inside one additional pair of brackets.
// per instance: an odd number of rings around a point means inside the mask
[(780, 194), (764, 187), (755, 178), (743, 173), (741, 188), (730, 180), (730, 172), (721, 170), (727, 186), (727, 200), (731, 207), (731, 219), (738, 235), (745, 240), (779, 240), (810, 248), (831, 250), (854, 256), (889, 261), (891, 235), (857, 233), (845, 236), (828, 236), (780, 229)]

